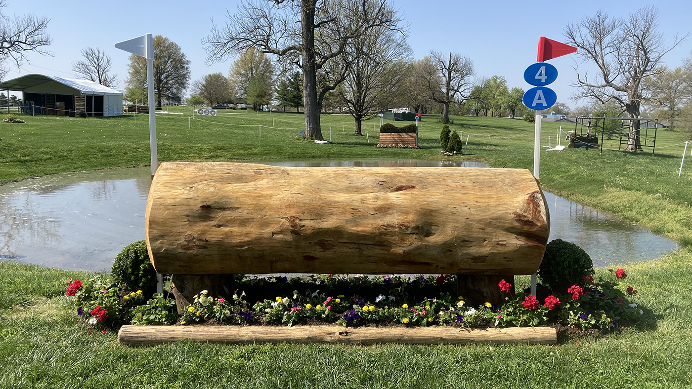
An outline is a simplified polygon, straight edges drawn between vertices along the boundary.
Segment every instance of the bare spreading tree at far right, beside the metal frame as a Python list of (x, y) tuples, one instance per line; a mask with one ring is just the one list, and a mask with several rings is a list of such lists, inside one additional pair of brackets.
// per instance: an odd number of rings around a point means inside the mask
[[(661, 72), (663, 56), (679, 45), (682, 38), (675, 36), (666, 48), (663, 35), (658, 31), (658, 10), (647, 6), (630, 14), (628, 19), (610, 18), (603, 11), (585, 17), (579, 23), (565, 28), (567, 44), (576, 46), (583, 61), (597, 65), (599, 74), (593, 82), (576, 70), (579, 91), (573, 99), (595, 99), (603, 104), (618, 102), (631, 118), (639, 117), (641, 104), (649, 99), (643, 83), (647, 77)], [(641, 151), (639, 120), (630, 120), (626, 151)]]

